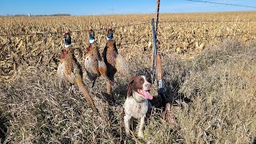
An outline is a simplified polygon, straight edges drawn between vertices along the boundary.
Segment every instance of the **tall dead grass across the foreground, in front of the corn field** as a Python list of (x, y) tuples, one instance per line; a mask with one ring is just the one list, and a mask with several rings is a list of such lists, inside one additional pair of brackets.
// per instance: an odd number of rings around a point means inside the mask
[[(166, 98), (175, 104), (178, 126), (166, 123), (161, 107), (153, 101), (156, 107), (146, 121), (144, 140), (138, 139), (136, 133), (131, 138), (124, 133), (126, 78), (118, 75), (114, 87), (116, 102), (110, 104), (109, 110), (102, 89), (104, 81), (99, 79), (96, 88), (90, 89), (102, 113), (93, 116), (78, 90), (74, 94), (58, 90), (50, 66), (20, 67), (22, 72), (14, 82), (0, 85), (1, 142), (255, 142), (255, 52), (255, 43), (244, 46), (238, 40), (226, 40), (189, 60), (163, 55)], [(134, 74), (145, 74), (148, 69), (132, 60), (130, 68)], [(110, 119), (110, 127), (105, 118)]]

